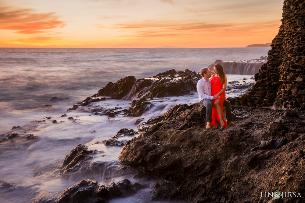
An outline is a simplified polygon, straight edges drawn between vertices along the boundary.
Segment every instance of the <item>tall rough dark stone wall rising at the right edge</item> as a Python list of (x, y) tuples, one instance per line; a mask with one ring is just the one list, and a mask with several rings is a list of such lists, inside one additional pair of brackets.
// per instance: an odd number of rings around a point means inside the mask
[(249, 93), (232, 105), (299, 109), (305, 107), (305, 1), (285, 0), (282, 25), (268, 52), (268, 61), (255, 75)]

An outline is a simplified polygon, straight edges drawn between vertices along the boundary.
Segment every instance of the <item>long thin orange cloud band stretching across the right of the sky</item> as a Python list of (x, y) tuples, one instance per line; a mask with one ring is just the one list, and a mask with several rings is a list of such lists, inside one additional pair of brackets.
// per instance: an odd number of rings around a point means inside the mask
[[(279, 21), (249, 23), (180, 23), (173, 21), (143, 21), (139, 23), (116, 24), (113, 28), (123, 29), (121, 32), (131, 33), (120, 37), (167, 37), (210, 35), (217, 37), (238, 37), (256, 35), (257, 33), (276, 32)], [(267, 28), (266, 28), (267, 27)]]

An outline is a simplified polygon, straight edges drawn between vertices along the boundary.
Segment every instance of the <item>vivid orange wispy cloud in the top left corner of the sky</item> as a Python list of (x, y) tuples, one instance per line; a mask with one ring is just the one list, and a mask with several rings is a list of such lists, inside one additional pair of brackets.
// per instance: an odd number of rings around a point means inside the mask
[(51, 13), (34, 13), (33, 9), (15, 9), (0, 7), (0, 29), (16, 30), (18, 34), (37, 34), (49, 29), (62, 28), (65, 23)]

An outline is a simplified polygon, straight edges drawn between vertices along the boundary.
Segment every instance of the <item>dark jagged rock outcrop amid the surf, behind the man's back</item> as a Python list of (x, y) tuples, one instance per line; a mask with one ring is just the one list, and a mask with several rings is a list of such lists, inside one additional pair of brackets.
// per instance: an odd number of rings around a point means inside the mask
[(172, 69), (149, 79), (135, 79), (133, 76), (127, 76), (116, 83), (109, 82), (97, 94), (87, 97), (68, 110), (76, 110), (78, 107), (87, 106), (92, 102), (106, 100), (104, 96), (108, 96), (111, 99), (132, 100), (131, 106), (127, 110), (102, 108), (95, 111), (95, 115), (105, 113), (109, 117), (114, 117), (123, 112), (125, 116), (137, 117), (153, 107), (153, 103), (150, 101), (152, 98), (182, 96), (196, 92), (196, 84), (201, 78), (198, 73), (188, 69), (185, 71)]

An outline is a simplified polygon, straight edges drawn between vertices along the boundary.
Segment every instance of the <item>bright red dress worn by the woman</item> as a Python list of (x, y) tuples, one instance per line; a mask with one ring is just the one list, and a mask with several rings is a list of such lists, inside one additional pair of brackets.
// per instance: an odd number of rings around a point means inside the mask
[[(212, 93), (211, 93), (212, 96), (214, 96), (215, 94), (219, 93), (222, 90), (223, 85), (224, 85), (219, 80), (219, 77), (215, 77), (215, 75), (212, 75), (211, 84), (212, 84)], [(224, 108), (224, 100), (226, 99), (226, 94), (222, 93), (219, 96), (220, 96), (220, 98), (216, 99), (214, 101), (214, 103), (217, 100), (220, 100), (221, 116), (222, 116), (222, 119), (224, 120), (223, 108)], [(211, 123), (211, 126), (217, 126), (216, 120), (220, 122), (219, 115), (217, 113), (217, 110), (216, 110), (216, 107), (215, 107), (214, 103), (213, 103), (213, 110), (212, 110), (212, 123)], [(227, 125), (228, 125), (227, 122), (224, 120), (224, 128), (226, 128)]]

